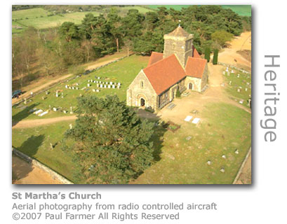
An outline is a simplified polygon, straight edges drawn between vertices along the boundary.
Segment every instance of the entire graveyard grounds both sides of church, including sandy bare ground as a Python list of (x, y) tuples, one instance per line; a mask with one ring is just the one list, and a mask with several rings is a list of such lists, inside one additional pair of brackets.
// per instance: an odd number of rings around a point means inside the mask
[[(13, 106), (13, 123), (31, 122), (30, 127), (13, 126), (13, 147), (74, 181), (72, 157), (61, 148), (61, 139), (74, 120), (61, 118), (74, 116), (76, 98), (86, 94), (116, 94), (126, 100), (128, 85), (148, 60), (138, 55), (126, 57)], [(159, 113), (138, 111), (155, 122), (154, 163), (130, 183), (232, 183), (251, 146), (251, 73), (211, 63), (208, 69), (206, 92), (187, 91), (175, 99), (174, 106), (166, 106)], [(34, 120), (47, 118), (59, 120), (34, 125)], [(171, 124), (169, 129), (166, 123)]]

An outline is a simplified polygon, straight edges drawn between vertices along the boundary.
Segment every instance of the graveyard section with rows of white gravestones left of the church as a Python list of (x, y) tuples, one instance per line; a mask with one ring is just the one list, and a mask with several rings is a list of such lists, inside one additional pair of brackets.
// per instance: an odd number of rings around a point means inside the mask
[[(75, 76), (68, 82), (60, 83), (27, 99), (26, 102), (13, 106), (12, 120), (18, 122), (70, 116), (71, 112), (74, 113), (77, 109), (76, 98), (85, 94), (96, 94), (98, 97), (117, 94), (119, 99), (125, 100), (126, 88), (135, 73), (145, 67), (147, 62), (148, 57), (132, 55), (86, 75)], [(48, 113), (45, 113), (46, 111)]]

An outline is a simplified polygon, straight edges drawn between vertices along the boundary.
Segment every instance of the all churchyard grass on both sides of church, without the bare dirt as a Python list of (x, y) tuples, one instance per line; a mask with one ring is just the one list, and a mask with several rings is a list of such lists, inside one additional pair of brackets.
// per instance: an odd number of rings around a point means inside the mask
[[(140, 69), (147, 65), (148, 59), (149, 57), (132, 55), (86, 76), (61, 83), (49, 90), (48, 95), (44, 92), (32, 97), (32, 102), (13, 107), (13, 122), (70, 116), (62, 110), (69, 111), (69, 107), (73, 106), (73, 110), (76, 111), (76, 97), (79, 97), (79, 94), (96, 94), (99, 97), (117, 94), (121, 100), (125, 100), (128, 85)], [(222, 71), (225, 71), (224, 66)], [(239, 99), (246, 101), (251, 94), (251, 85), (247, 85), (251, 83), (251, 76), (239, 73), (237, 78), (238, 73), (234, 69), (234, 73), (229, 73), (229, 76), (227, 73), (221, 73), (221, 76), (225, 82), (225, 94), (231, 99), (236, 99), (239, 104)], [(87, 87), (88, 80), (97, 80), (95, 76), (105, 77), (105, 80), (100, 79), (105, 82), (121, 83), (121, 88), (99, 88), (96, 87), (96, 83), (90, 83), (91, 87)], [(232, 81), (232, 85), (229, 85), (229, 81)], [(79, 85), (74, 85), (75, 83)], [(79, 87), (79, 90), (67, 89), (65, 85)], [(242, 87), (241, 92), (237, 92), (239, 86)], [(83, 87), (86, 88), (81, 90)], [(245, 91), (245, 87), (248, 91)], [(100, 89), (100, 92), (93, 92), (93, 89)], [(62, 90), (63, 99), (61, 93), (59, 97), (55, 97), (56, 90)], [(46, 99), (43, 100), (42, 97)], [(185, 98), (182, 97), (180, 100)], [(244, 106), (246, 104), (243, 103)], [(57, 112), (49, 111), (42, 117), (29, 112), (34, 107), (46, 111), (49, 105), (62, 109)], [(198, 125), (184, 123), (175, 132), (166, 130), (162, 125), (155, 126), (152, 138), (154, 164), (131, 183), (232, 183), (251, 146), (251, 113), (236, 104), (208, 102), (200, 111), (200, 118), (201, 123)], [(71, 123), (74, 125), (74, 121), (62, 121), (39, 127), (13, 128), (13, 147), (74, 181), (71, 156), (61, 151), (60, 142)], [(50, 144), (53, 144), (53, 149)], [(224, 172), (220, 169), (224, 169)]]

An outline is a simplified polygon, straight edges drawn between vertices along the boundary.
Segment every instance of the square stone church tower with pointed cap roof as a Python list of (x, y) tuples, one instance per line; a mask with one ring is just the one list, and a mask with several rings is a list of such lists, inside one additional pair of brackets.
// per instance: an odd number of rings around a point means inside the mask
[(187, 33), (180, 25), (169, 34), (165, 34), (163, 58), (175, 54), (183, 68), (187, 57), (192, 57), (193, 34)]

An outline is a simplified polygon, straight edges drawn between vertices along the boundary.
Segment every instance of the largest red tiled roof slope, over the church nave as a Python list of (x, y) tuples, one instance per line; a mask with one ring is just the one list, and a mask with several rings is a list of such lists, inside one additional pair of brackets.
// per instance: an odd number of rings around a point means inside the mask
[(186, 76), (174, 54), (147, 66), (143, 71), (158, 95)]

